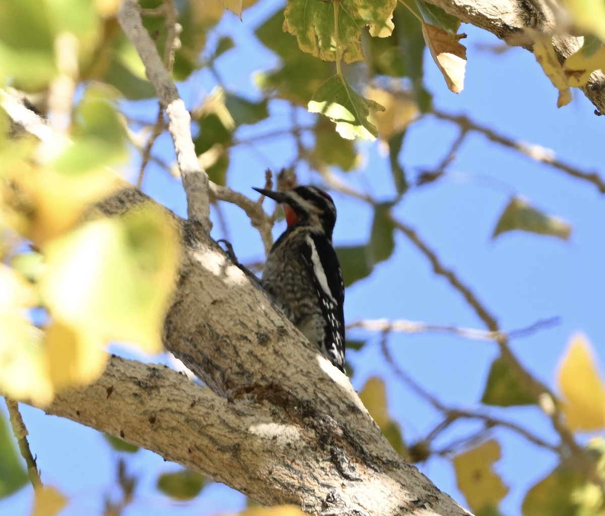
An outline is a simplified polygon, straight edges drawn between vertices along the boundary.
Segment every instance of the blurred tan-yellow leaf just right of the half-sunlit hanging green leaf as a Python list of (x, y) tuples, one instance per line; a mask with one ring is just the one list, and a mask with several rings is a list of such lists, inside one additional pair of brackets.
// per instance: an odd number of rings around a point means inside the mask
[(406, 93), (391, 93), (378, 88), (367, 88), (365, 94), (378, 104), (384, 106), (384, 111), (376, 111), (371, 116), (376, 120), (378, 136), (387, 142), (394, 134), (399, 134), (413, 122), (418, 115), (416, 102)]

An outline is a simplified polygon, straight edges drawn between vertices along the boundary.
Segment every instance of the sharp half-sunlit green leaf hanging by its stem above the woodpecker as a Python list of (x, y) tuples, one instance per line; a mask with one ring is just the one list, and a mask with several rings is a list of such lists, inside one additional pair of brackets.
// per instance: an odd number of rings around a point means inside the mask
[(311, 113), (321, 113), (336, 122), (336, 131), (347, 139), (360, 136), (373, 140), (378, 130), (370, 123), (368, 116), (376, 111), (384, 111), (378, 102), (364, 99), (338, 75), (322, 84), (309, 102)]

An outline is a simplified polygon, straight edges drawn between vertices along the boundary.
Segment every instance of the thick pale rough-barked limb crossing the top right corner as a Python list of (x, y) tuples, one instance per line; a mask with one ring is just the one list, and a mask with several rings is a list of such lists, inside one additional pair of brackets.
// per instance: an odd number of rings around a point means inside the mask
[[(553, 45), (560, 62), (581, 47), (581, 38), (561, 34), (566, 15), (554, 1), (541, 0), (427, 0), (463, 22), (483, 28), (509, 45), (531, 50), (533, 41), (527, 29), (555, 36)], [(536, 66), (539, 66), (536, 64)], [(553, 87), (554, 88), (554, 87)], [(600, 113), (605, 113), (605, 74), (592, 73), (581, 88)], [(556, 102), (556, 91), (553, 93)]]

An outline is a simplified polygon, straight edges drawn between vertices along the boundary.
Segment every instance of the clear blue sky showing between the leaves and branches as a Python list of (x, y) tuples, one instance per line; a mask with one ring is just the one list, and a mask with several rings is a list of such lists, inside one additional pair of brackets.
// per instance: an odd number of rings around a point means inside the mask
[[(224, 16), (218, 33), (229, 33), (241, 44), (237, 51), (227, 53), (217, 62), (227, 87), (253, 96), (251, 74), (276, 64), (274, 56), (246, 35), (275, 8), (275, 2), (261, 2), (244, 12), (243, 22), (229, 13)], [(594, 116), (594, 107), (583, 94), (574, 91), (572, 104), (557, 109), (557, 90), (531, 53), (512, 48), (503, 55), (495, 55), (479, 48), (482, 44), (499, 44), (494, 36), (468, 25), (463, 25), (461, 30), (468, 34), (463, 40), (468, 48), (468, 64), (461, 94), (446, 89), (428, 53), (425, 56), (427, 84), (435, 105), (443, 111), (467, 114), (506, 136), (552, 148), (572, 165), (605, 176), (603, 120)], [(180, 90), (188, 107), (192, 107), (212, 87), (210, 76), (202, 73)], [(151, 106), (149, 102), (142, 102), (131, 109), (151, 117), (155, 116), (150, 114), (155, 111)], [(276, 102), (271, 110), (275, 119), (266, 122), (264, 130), (283, 127), (287, 121), (283, 104)], [(250, 133), (249, 129), (245, 131), (238, 136)], [(414, 124), (405, 137), (400, 157), (407, 173), (414, 177), (419, 170), (438, 164), (456, 135), (454, 125), (433, 117)], [(168, 138), (163, 137), (155, 150), (172, 160), (169, 145)], [(360, 142), (359, 148), (364, 164), (359, 170), (343, 174), (344, 179), (378, 199), (388, 199), (393, 185), (387, 159), (376, 144)], [(279, 140), (235, 150), (229, 185), (251, 195), (252, 186), (263, 185), (264, 170), (267, 167), (279, 170), (289, 164), (292, 153), (292, 145)], [(505, 331), (531, 325), (538, 319), (561, 317), (557, 326), (511, 343), (517, 357), (538, 379), (555, 386), (561, 355), (577, 331), (584, 332), (592, 342), (603, 371), (603, 195), (594, 185), (573, 179), (548, 165), (537, 164), (489, 142), (480, 134), (468, 137), (450, 171), (436, 184), (410, 191), (398, 205), (397, 216), (414, 227), (443, 264), (472, 287)], [(301, 183), (319, 180), (319, 176), (308, 171), (299, 175)], [(180, 183), (152, 165), (148, 168), (144, 189), (178, 214), (186, 213)], [(547, 213), (569, 221), (573, 226), (571, 239), (563, 242), (515, 232), (491, 240), (500, 213), (511, 194), (517, 193)], [(370, 210), (341, 194), (335, 193), (333, 197), (339, 210), (336, 245), (366, 242)], [(223, 206), (221, 210), (239, 259), (243, 262), (261, 260), (260, 237), (241, 211), (232, 206)], [(283, 227), (277, 225), (274, 235), (281, 230)], [(213, 236), (223, 237), (218, 224)], [(370, 277), (350, 287), (346, 296), (347, 322), (408, 319), (483, 329), (460, 294), (436, 277), (427, 260), (401, 235), (396, 236), (393, 256), (381, 263)], [(425, 435), (439, 418), (432, 408), (393, 377), (381, 356), (379, 336), (351, 331), (349, 337), (368, 339), (361, 352), (349, 354), (355, 368), (352, 379), (355, 388), (361, 388), (372, 375), (385, 377), (391, 414), (401, 424), (405, 440), (410, 443)], [(391, 336), (388, 345), (399, 365), (440, 400), (469, 409), (479, 406), (489, 364), (497, 356), (494, 343), (431, 333), (396, 334)], [(161, 357), (144, 360), (161, 360)], [(71, 498), (62, 514), (99, 514), (103, 492), (116, 492), (112, 488), (116, 452), (111, 451), (96, 431), (48, 417), (36, 409), (25, 407), (23, 413), (42, 479)], [(556, 440), (536, 408), (502, 409), (497, 414), (522, 422), (547, 440)], [(459, 425), (446, 432), (436, 445), (444, 446), (472, 428), (476, 426)], [(503, 445), (503, 457), (495, 469), (511, 488), (502, 510), (506, 515), (517, 515), (528, 487), (555, 466), (556, 457), (510, 432), (497, 429), (492, 435)], [(174, 503), (159, 494), (154, 483), (160, 472), (177, 469), (177, 466), (147, 451), (132, 456), (128, 464), (129, 471), (141, 478), (137, 501), (125, 512), (128, 516), (217, 514), (236, 510), (243, 503), (243, 497), (221, 485), (207, 488), (201, 498), (191, 504)], [(434, 458), (420, 469), (437, 486), (465, 504), (448, 460)], [(0, 500), (0, 514), (25, 515), (30, 504), (31, 489), (24, 488)]]

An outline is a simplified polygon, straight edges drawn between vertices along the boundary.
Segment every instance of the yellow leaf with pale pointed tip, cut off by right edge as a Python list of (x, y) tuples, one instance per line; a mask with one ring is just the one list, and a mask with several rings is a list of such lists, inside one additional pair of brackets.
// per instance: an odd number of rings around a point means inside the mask
[(590, 344), (583, 335), (575, 336), (561, 361), (558, 386), (565, 402), (563, 412), (573, 430), (605, 428), (605, 385)]

